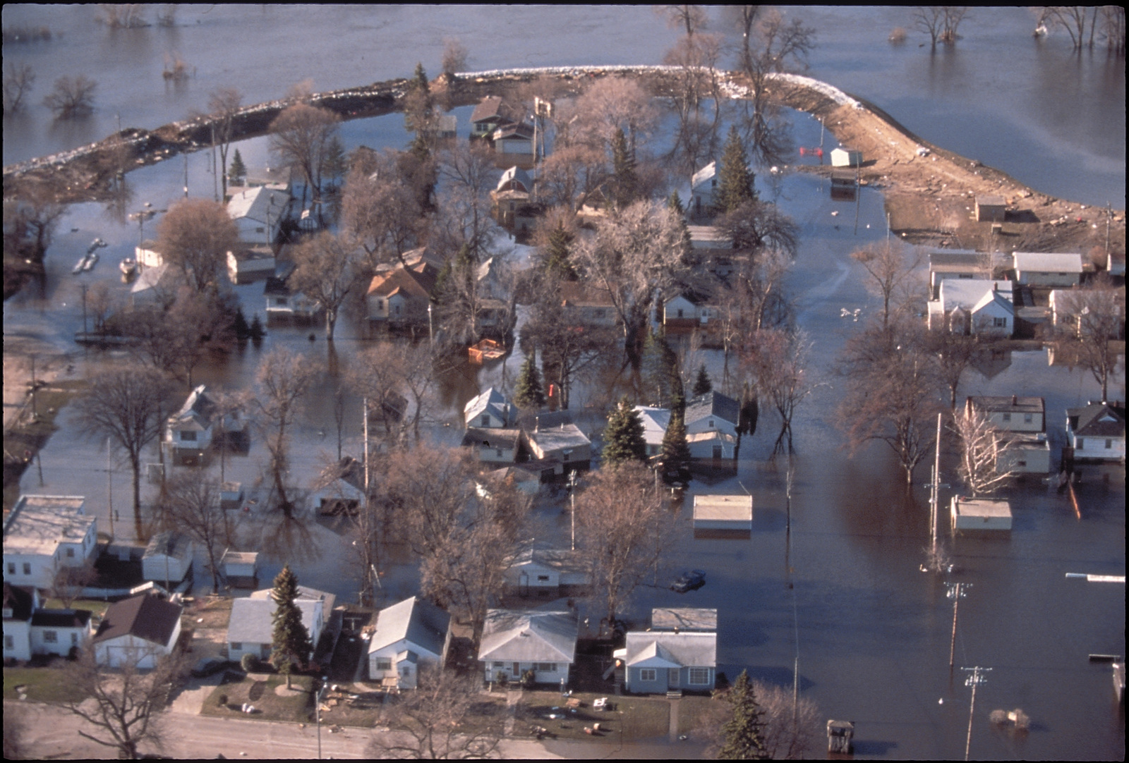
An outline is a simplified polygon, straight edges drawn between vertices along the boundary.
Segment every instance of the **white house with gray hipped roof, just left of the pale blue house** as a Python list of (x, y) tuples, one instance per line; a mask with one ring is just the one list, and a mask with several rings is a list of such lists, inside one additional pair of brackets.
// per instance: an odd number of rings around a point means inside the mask
[(567, 684), (578, 628), (571, 612), (489, 609), (479, 646), (485, 679), (520, 681), (533, 670), (535, 683)]

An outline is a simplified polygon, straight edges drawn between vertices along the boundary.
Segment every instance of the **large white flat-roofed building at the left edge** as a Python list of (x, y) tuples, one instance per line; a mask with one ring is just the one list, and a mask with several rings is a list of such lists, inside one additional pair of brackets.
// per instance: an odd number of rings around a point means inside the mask
[(20, 495), (3, 524), (5, 581), (50, 588), (63, 567), (82, 567), (97, 550), (98, 521), (80, 495)]

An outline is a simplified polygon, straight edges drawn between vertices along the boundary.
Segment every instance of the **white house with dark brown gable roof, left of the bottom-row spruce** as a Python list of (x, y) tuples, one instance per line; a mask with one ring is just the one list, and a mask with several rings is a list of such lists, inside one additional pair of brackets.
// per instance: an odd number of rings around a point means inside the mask
[(182, 609), (149, 594), (111, 604), (91, 640), (98, 665), (156, 667), (158, 659), (176, 648)]

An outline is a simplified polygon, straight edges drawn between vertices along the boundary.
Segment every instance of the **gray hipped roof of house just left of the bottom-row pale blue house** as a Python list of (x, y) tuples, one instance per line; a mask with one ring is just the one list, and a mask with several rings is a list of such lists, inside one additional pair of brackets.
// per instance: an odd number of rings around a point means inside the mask
[(571, 612), (490, 609), (482, 629), (479, 659), (572, 663), (577, 629)]

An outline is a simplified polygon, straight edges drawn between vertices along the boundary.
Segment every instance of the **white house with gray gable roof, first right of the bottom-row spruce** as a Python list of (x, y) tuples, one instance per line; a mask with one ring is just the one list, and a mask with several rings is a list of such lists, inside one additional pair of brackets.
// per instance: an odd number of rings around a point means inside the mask
[(380, 609), (368, 642), (368, 678), (415, 689), (425, 665), (443, 667), (450, 648), (450, 615), (417, 597)]

